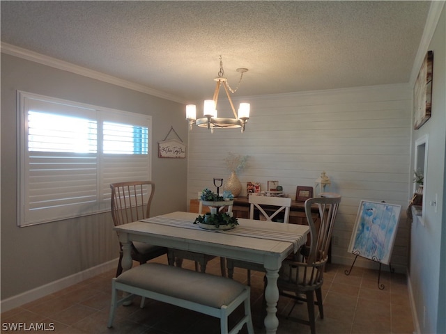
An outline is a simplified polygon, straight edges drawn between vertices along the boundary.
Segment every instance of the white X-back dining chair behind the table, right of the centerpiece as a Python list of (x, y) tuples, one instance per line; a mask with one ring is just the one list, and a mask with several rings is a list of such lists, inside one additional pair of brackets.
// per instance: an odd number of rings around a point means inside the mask
[[(249, 196), (249, 218), (254, 219), (254, 211), (259, 210), (259, 218), (263, 217), (267, 221), (277, 221), (288, 223), (290, 216), (291, 198), (270, 197), (270, 196)], [(279, 214), (283, 213), (282, 216)], [(280, 218), (279, 218), (280, 217)], [(262, 264), (241, 260), (226, 259), (228, 277), (233, 278), (234, 268), (247, 269), (247, 284), (251, 285), (251, 271), (266, 272)]]

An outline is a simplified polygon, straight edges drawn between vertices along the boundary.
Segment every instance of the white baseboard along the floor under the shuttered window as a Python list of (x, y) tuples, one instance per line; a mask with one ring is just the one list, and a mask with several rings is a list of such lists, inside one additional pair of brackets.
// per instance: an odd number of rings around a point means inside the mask
[(41, 287), (36, 287), (29, 291), (23, 292), (22, 294), (17, 294), (17, 296), (12, 296), (1, 301), (0, 310), (1, 312), (5, 312), (8, 310), (12, 310), (13, 308), (18, 308), (21, 305), (30, 303), (31, 301), (35, 301), (36, 299), (42, 298), (43, 296), (58, 292), (59, 290), (65, 289), (66, 287), (70, 287), (70, 285), (82, 282), (82, 280), (86, 280), (88, 278), (97, 276), (100, 273), (105, 273), (109, 270), (116, 269), (117, 264), (118, 259), (111, 260), (109, 262), (99, 264), (98, 266), (86, 269), (84, 271), (80, 271), (79, 273), (61, 278), (60, 280), (55, 280), (52, 283), (42, 285)]

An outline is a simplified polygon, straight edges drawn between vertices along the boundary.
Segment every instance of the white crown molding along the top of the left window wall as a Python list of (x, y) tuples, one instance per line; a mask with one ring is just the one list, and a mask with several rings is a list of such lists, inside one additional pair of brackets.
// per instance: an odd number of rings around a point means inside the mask
[(1, 42), (1, 52), (3, 54), (9, 54), (11, 56), (16, 56), (19, 58), (26, 59), (27, 61), (33, 61), (35, 63), (40, 63), (43, 65), (57, 68), (59, 70), (64, 70), (67, 72), (72, 72), (75, 74), (82, 75), (84, 77), (89, 77), (91, 79), (96, 79), (96, 80), (100, 80), (103, 82), (107, 82), (108, 84), (113, 84), (116, 86), (121, 86), (123, 88), (136, 90), (138, 92), (145, 93), (148, 95), (153, 95), (155, 97), (160, 97), (165, 100), (170, 100), (170, 101), (186, 104), (185, 100), (183, 100), (180, 97), (177, 97), (175, 95), (170, 95), (170, 94), (164, 93), (160, 90), (155, 90), (153, 88), (149, 88), (144, 85), (134, 84), (131, 81), (119, 79), (119, 78), (113, 77), (112, 75), (109, 75), (109, 74), (104, 74), (101, 72), (89, 70), (86, 67), (74, 65), (72, 63), (68, 63), (66, 61), (61, 61), (59, 59), (45, 56), (43, 54), (38, 54), (37, 52), (30, 51), (28, 49), (23, 49), (22, 47), (16, 47), (15, 45), (10, 45), (5, 42)]

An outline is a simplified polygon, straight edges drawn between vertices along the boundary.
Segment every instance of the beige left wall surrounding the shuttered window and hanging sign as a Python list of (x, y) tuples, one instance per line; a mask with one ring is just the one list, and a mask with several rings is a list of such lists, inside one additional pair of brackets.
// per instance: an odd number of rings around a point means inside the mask
[(187, 159), (157, 157), (171, 126), (187, 141), (183, 104), (1, 54), (2, 301), (118, 257), (109, 213), (17, 227), (17, 90), (152, 116), (151, 214), (186, 209)]

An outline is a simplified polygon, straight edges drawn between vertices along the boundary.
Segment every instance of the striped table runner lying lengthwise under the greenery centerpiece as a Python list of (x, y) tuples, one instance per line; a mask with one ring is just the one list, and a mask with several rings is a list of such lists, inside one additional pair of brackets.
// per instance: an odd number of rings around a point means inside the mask
[[(176, 228), (189, 228), (192, 230), (201, 230), (198, 224), (194, 224), (191, 221), (185, 221), (183, 219), (167, 218), (163, 216), (156, 216), (147, 219), (141, 219), (144, 223), (153, 223), (160, 225), (168, 225)], [(293, 244), (294, 253), (297, 253), (300, 246), (304, 244), (304, 238), (300, 235), (291, 234), (289, 232), (281, 232), (262, 228), (249, 228), (243, 225), (237, 225), (236, 228), (232, 230), (206, 230), (207, 232), (219, 232), (224, 234), (233, 234), (240, 237), (253, 237), (257, 239), (267, 239), (276, 241), (286, 241)]]

